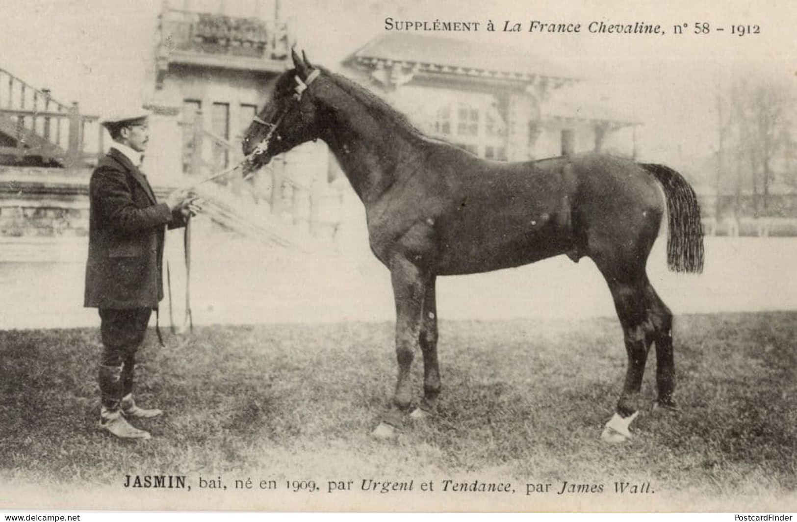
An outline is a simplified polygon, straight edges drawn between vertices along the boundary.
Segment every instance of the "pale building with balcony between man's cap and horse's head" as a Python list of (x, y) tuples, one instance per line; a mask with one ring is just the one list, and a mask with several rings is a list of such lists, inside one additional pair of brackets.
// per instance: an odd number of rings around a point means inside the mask
[[(180, 172), (226, 167), (237, 152), (241, 131), (269, 92), (271, 81), (288, 64), (289, 33), (278, 5), (261, 0), (247, 15), (230, 2), (165, 2), (153, 60), (151, 104), (180, 128)], [(241, 4), (235, 3), (240, 10)], [(202, 142), (210, 154), (195, 158)], [(172, 147), (174, 148), (174, 147)], [(174, 161), (175, 158), (172, 158)]]

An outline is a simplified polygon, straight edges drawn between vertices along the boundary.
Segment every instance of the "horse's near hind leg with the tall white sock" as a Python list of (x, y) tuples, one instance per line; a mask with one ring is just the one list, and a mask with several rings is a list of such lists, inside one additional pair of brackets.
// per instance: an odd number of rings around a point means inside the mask
[(601, 438), (607, 442), (623, 442), (631, 438), (629, 426), (638, 414), (639, 391), (642, 388), (653, 326), (647, 319), (642, 285), (611, 281), (609, 287), (622, 324), (628, 367), (622, 394), (617, 402), (617, 411), (607, 422)]

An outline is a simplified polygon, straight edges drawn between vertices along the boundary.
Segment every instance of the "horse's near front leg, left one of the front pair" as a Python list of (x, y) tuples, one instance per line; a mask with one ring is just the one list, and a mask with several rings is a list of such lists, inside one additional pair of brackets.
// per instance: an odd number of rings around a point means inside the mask
[(396, 305), (396, 381), (393, 405), (374, 431), (377, 437), (392, 437), (400, 426), (404, 412), (412, 401), (410, 369), (421, 332), (421, 310), (426, 294), (426, 281), (416, 265), (397, 256), (391, 261), (391, 281)]

